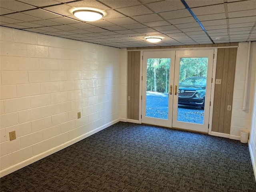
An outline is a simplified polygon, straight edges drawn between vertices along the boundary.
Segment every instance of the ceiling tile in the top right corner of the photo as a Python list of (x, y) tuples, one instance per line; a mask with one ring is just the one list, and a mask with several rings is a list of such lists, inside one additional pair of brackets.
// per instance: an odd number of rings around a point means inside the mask
[(228, 12), (256, 9), (255, 0), (228, 3)]

